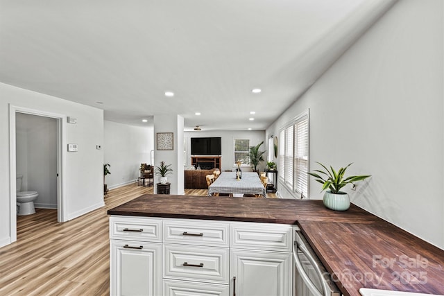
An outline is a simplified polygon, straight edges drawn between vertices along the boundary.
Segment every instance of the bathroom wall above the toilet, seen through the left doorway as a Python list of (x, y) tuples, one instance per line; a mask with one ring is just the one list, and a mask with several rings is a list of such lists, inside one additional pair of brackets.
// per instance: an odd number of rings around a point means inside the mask
[(57, 119), (17, 113), (16, 170), (22, 191), (37, 191), (35, 207), (57, 209)]

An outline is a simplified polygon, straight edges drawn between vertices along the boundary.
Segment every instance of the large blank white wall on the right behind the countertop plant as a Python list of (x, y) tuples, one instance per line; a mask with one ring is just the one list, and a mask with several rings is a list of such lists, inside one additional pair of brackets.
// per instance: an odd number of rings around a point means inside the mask
[[(403, 0), (354, 44), (267, 134), (310, 110), (310, 169), (372, 177), (352, 202), (444, 247), (443, 1)], [(310, 180), (310, 198), (321, 184)]]

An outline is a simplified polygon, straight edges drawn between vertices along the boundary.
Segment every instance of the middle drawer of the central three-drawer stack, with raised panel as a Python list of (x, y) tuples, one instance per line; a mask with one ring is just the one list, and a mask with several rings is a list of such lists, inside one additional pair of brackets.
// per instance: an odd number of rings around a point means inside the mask
[(228, 248), (164, 245), (164, 278), (228, 284)]

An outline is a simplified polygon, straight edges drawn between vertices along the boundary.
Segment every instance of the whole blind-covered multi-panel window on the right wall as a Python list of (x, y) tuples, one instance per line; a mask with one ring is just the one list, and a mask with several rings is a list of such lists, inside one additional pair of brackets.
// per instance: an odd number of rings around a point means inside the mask
[(308, 196), (309, 113), (304, 112), (279, 132), (280, 181), (293, 192)]

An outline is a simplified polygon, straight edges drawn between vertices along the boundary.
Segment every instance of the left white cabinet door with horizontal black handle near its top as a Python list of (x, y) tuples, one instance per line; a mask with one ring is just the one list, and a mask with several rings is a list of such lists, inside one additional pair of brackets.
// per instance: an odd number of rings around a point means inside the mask
[(110, 295), (162, 295), (162, 244), (111, 240)]

